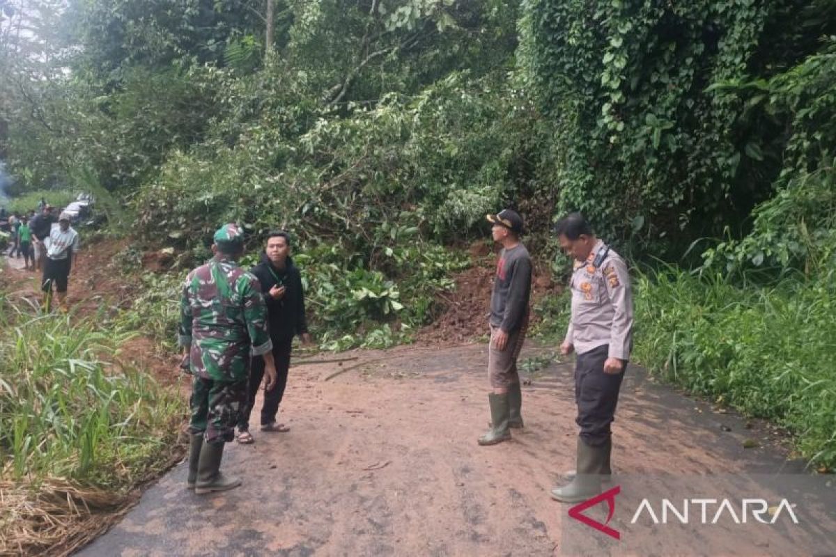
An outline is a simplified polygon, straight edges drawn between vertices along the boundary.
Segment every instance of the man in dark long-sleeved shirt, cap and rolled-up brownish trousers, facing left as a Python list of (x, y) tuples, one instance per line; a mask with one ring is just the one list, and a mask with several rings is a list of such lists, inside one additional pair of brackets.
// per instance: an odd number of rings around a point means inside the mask
[(511, 438), (509, 428), (522, 428), (523, 393), (517, 372), (517, 357), (528, 328), (528, 298), (531, 295), (531, 256), (520, 236), (523, 218), (505, 209), (487, 215), (493, 223), (493, 241), (502, 245), (491, 296), (491, 343), (488, 347), (488, 378), (493, 392), (491, 430), (479, 438), (480, 445), (494, 445)]

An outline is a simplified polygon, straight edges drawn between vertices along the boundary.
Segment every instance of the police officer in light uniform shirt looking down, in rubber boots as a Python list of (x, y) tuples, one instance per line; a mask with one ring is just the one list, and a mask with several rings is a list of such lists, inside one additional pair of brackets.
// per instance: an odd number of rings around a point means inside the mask
[(609, 476), (613, 422), (624, 368), (630, 359), (633, 297), (624, 260), (595, 237), (582, 215), (573, 213), (554, 227), (561, 249), (573, 257), (572, 316), (560, 352), (578, 354), (575, 363), (576, 423), (580, 427), (576, 472), (552, 498), (576, 503), (599, 494)]

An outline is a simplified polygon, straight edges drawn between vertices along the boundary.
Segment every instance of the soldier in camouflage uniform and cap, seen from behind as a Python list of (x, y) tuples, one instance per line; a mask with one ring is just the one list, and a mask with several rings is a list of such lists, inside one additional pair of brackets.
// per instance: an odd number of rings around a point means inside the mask
[(273, 343), (261, 286), (236, 261), (243, 235), (223, 225), (214, 236), (215, 256), (197, 267), (183, 284), (178, 342), (189, 353), (194, 376), (191, 392), (191, 453), (188, 485), (197, 494), (224, 491), (241, 484), (221, 471), (224, 443), (247, 402), (251, 356), (263, 356), (266, 388), (276, 384)]

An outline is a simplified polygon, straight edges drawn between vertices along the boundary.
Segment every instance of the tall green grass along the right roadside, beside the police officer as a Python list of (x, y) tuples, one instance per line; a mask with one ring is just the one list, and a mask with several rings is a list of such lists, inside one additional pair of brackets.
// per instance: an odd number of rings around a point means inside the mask
[(672, 267), (635, 283), (635, 357), (652, 372), (789, 428), (836, 467), (836, 276), (732, 284)]

